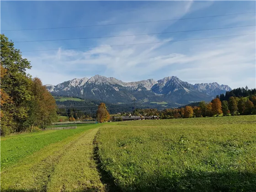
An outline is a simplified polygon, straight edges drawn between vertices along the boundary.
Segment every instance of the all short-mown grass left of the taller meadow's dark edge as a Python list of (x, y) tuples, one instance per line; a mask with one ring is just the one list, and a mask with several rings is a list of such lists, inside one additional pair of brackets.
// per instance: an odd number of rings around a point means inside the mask
[[(94, 124), (2, 139), (0, 142), (7, 142), (2, 151), (22, 145), (24, 149), (16, 151), (18, 156), (5, 153), (5, 158), (16, 163), (8, 167), (5, 164), (0, 172), (0, 192), (105, 191), (93, 159), (97, 131), (98, 125)], [(31, 145), (37, 146), (36, 149)]]

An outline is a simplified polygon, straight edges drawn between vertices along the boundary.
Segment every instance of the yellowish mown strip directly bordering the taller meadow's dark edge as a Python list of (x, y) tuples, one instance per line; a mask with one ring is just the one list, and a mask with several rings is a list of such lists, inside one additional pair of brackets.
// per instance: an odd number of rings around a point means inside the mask
[(93, 160), (93, 139), (98, 129), (83, 134), (62, 156), (51, 176), (48, 192), (103, 192), (96, 163)]

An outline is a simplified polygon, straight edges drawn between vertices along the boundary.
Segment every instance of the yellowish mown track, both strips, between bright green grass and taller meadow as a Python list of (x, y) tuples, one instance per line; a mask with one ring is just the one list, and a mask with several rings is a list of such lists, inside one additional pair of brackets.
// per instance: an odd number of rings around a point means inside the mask
[(98, 128), (86, 127), (0, 172), (0, 192), (104, 191), (93, 160)]

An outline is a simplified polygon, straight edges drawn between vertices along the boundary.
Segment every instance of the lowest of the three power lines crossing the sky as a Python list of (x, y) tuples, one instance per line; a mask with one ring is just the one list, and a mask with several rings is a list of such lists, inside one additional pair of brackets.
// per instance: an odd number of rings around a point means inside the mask
[[(245, 35), (255, 35), (256, 33), (249, 34), (241, 34), (241, 35), (229, 35), (222, 37), (208, 37), (208, 38), (197, 38), (197, 39), (184, 39), (184, 40), (171, 40), (171, 41), (160, 41), (160, 42), (151, 42), (151, 43), (135, 43), (135, 44), (124, 44), (124, 45), (107, 45), (107, 46), (96, 46), (96, 47), (83, 47), (83, 48), (106, 48), (106, 47), (121, 47), (121, 46), (129, 46), (129, 45), (146, 45), (146, 44), (156, 44), (156, 43), (170, 43), (170, 42), (181, 42), (181, 41), (196, 41), (203, 39), (215, 39), (215, 38), (224, 38), (224, 37), (239, 37)], [(27, 50), (22, 52), (32, 52), (32, 51), (56, 51), (56, 50), (66, 50), (66, 49), (83, 49), (83, 48), (62, 48), (62, 49), (40, 49), (40, 50)]]

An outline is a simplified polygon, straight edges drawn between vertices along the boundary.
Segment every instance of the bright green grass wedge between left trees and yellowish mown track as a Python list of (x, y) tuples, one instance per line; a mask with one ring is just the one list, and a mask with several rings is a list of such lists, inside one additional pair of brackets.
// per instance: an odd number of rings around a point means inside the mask
[(27, 133), (14, 135), (0, 140), (0, 171), (18, 160), (31, 155), (48, 144), (59, 142), (67, 137), (83, 132), (89, 125), (76, 129), (45, 131), (44, 133)]

